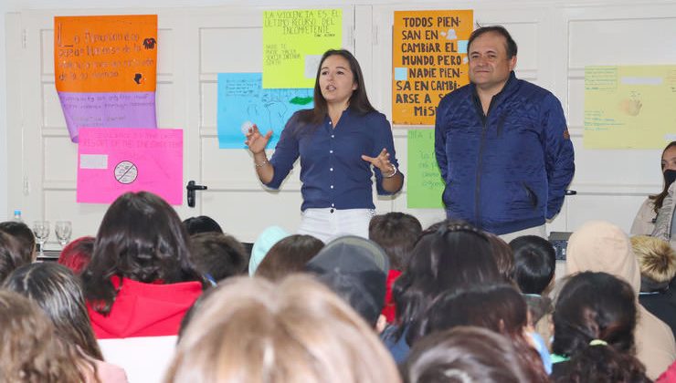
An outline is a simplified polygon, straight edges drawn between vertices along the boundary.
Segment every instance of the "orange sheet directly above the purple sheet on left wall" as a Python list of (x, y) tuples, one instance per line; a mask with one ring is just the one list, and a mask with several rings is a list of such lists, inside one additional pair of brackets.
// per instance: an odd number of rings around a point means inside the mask
[(155, 91), (157, 15), (54, 17), (59, 92)]

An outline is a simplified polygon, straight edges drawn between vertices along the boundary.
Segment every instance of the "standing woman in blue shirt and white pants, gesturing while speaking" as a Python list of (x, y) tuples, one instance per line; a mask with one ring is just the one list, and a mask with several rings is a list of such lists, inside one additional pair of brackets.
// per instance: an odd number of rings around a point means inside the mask
[(378, 194), (399, 191), (392, 129), (366, 96), (359, 63), (347, 50), (328, 50), (317, 70), (314, 108), (296, 112), (281, 132), (268, 160), (263, 135), (254, 125), (245, 144), (253, 154), (259, 180), (278, 189), (293, 163), (301, 159), (300, 234), (326, 243), (339, 234), (368, 237), (373, 216), (373, 186)]

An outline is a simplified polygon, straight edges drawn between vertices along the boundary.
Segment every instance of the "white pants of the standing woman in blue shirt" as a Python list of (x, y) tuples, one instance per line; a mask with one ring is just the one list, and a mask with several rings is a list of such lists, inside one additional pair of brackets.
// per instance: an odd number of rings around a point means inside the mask
[(341, 235), (368, 238), (368, 224), (374, 214), (372, 209), (305, 209), (298, 233), (312, 235), (323, 243)]

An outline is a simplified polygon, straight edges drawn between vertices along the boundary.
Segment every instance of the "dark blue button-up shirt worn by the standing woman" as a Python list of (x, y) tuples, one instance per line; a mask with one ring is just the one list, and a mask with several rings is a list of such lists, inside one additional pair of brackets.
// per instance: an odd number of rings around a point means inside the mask
[(378, 194), (383, 189), (383, 175), (362, 160), (362, 154), (376, 157), (384, 148), (398, 168), (392, 129), (384, 114), (357, 114), (343, 111), (333, 127), (327, 116), (320, 125), (301, 124), (296, 112), (281, 132), (270, 164), (274, 177), (266, 184), (278, 189), (293, 163), (301, 157), (302, 206), (308, 208), (375, 209), (371, 178), (375, 173)]

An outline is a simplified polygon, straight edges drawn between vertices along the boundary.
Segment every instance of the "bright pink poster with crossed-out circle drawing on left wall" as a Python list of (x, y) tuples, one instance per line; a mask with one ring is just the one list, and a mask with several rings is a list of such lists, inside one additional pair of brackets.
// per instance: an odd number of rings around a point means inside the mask
[(79, 129), (78, 202), (110, 203), (127, 191), (182, 203), (182, 129)]

